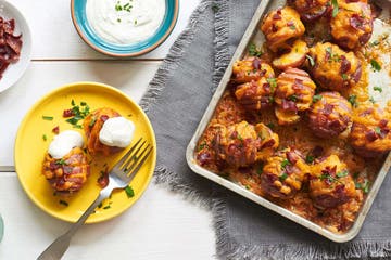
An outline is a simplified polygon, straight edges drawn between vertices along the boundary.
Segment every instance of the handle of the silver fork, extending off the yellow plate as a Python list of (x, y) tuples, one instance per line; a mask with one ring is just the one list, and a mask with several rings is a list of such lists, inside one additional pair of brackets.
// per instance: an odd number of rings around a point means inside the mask
[(62, 236), (59, 236), (50, 246), (45, 249), (45, 251), (39, 255), (37, 260), (58, 260), (64, 255), (66, 249), (70, 247), (72, 236), (77, 232), (77, 230), (86, 222), (87, 218), (93, 212), (99, 204), (103, 202), (106, 197), (110, 196), (113, 191), (113, 186), (109, 185), (101, 190), (99, 196), (96, 200), (88, 207), (84, 214), (74, 223), (71, 229), (65, 232)]

